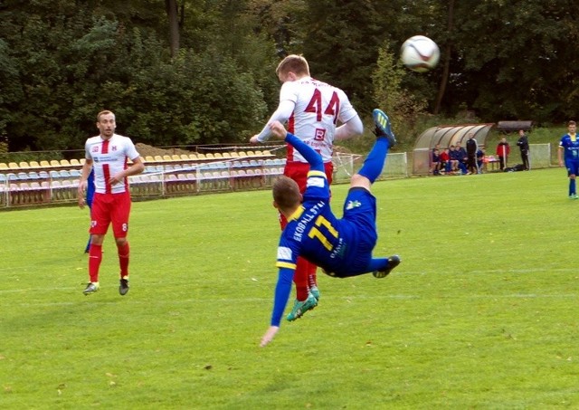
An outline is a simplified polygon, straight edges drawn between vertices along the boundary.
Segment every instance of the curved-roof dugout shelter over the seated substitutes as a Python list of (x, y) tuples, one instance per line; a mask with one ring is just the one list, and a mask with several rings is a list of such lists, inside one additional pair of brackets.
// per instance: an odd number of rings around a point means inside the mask
[(413, 174), (427, 175), (431, 165), (432, 148), (441, 146), (441, 150), (460, 143), (466, 146), (469, 134), (472, 132), (479, 147), (485, 147), (487, 136), (494, 123), (441, 125), (426, 129), (416, 138), (413, 148)]

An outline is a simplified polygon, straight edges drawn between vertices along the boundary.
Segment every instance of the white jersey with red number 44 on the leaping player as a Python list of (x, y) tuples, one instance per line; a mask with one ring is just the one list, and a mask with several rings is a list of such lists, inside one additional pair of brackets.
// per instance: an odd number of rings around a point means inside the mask
[[(288, 131), (318, 151), (324, 162), (331, 161), (338, 122), (346, 123), (357, 115), (346, 93), (326, 82), (304, 77), (283, 83), (280, 102), (283, 100), (295, 104), (288, 120)], [(288, 160), (307, 162), (291, 146), (288, 147)]]

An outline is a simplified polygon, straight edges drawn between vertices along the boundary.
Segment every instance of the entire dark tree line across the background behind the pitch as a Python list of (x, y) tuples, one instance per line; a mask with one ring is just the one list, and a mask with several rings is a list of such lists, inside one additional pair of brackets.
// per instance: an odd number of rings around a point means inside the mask
[[(572, 0), (35, 0), (0, 2), (0, 140), (11, 150), (81, 148), (96, 114), (154, 146), (245, 142), (278, 102), (275, 67), (375, 105), (413, 138), (417, 119), (576, 119)], [(414, 35), (441, 48), (432, 72), (403, 69)]]

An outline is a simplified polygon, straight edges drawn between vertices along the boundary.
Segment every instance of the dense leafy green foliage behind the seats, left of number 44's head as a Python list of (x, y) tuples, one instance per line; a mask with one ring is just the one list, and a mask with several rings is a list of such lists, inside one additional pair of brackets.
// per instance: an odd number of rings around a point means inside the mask
[[(249, 34), (222, 35), (225, 40), (172, 58), (166, 24), (161, 27), (144, 7), (150, 2), (140, 2), (144, 8), (129, 2), (119, 14), (114, 2), (81, 9), (62, 1), (52, 11), (48, 3), (1, 10), (14, 30), (0, 30), (8, 51), (0, 75), (20, 85), (1, 85), (0, 110), (12, 102), (0, 122), (11, 148), (80, 148), (104, 109), (118, 114), (119, 132), (152, 145), (245, 140), (265, 115), (261, 76), (258, 81), (252, 72), (265, 70), (267, 47), (259, 38), (243, 52), (240, 38)], [(261, 60), (252, 60), (256, 56)]]

